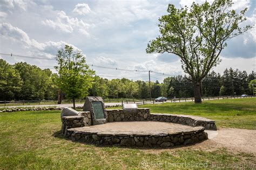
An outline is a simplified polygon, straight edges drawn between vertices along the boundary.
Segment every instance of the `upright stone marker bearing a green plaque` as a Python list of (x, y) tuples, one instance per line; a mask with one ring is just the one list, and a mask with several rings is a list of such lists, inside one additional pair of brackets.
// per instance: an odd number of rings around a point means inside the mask
[(106, 123), (107, 114), (101, 97), (86, 97), (83, 111), (91, 112), (92, 125)]

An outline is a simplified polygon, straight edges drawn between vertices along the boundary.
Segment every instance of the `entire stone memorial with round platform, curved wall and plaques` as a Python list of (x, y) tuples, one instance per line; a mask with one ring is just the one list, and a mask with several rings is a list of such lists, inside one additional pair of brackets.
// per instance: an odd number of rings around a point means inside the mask
[(73, 141), (96, 145), (172, 147), (207, 139), (205, 129), (217, 130), (215, 121), (206, 118), (152, 114), (134, 104), (123, 108), (105, 110), (102, 98), (87, 97), (83, 112), (63, 109), (62, 133)]

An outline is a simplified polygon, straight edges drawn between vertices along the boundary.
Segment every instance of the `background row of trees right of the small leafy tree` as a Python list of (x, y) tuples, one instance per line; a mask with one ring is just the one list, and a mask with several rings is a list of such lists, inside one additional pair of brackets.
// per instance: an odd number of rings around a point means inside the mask
[[(231, 96), (241, 94), (253, 94), (252, 84), (256, 78), (252, 71), (230, 68), (224, 71), (223, 76), (214, 71), (207, 74), (202, 80), (203, 96)], [(132, 81), (122, 79), (104, 79), (95, 76), (94, 84), (90, 89), (91, 96), (102, 96), (104, 98), (150, 98), (148, 81)], [(250, 83), (251, 82), (251, 83)], [(256, 84), (254, 85), (256, 87)], [(163, 83), (151, 82), (151, 97), (193, 97), (193, 83), (186, 76), (167, 77)]]

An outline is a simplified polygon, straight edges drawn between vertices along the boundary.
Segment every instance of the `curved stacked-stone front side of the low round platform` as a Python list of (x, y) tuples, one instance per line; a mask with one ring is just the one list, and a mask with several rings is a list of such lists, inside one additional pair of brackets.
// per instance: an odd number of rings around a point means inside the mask
[(88, 133), (80, 131), (67, 131), (67, 136), (72, 141), (83, 141), (97, 145), (117, 145), (117, 146), (138, 146), (138, 147), (173, 147), (176, 145), (188, 145), (208, 139), (204, 128), (195, 131), (179, 132), (174, 134), (104, 134)]

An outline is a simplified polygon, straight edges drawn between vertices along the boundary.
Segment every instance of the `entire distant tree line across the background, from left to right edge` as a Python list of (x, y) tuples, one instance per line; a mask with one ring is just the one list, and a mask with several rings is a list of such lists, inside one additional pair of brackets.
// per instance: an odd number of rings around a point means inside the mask
[[(50, 69), (19, 62), (14, 65), (0, 59), (0, 100), (56, 100), (58, 75)], [(214, 71), (202, 80), (203, 96), (252, 95), (255, 72), (226, 69), (221, 76)], [(149, 82), (130, 79), (93, 77), (88, 96), (103, 98), (150, 98)], [(167, 77), (162, 83), (151, 82), (151, 97), (193, 97), (193, 84), (186, 76)], [(63, 95), (65, 98), (65, 94)]]

